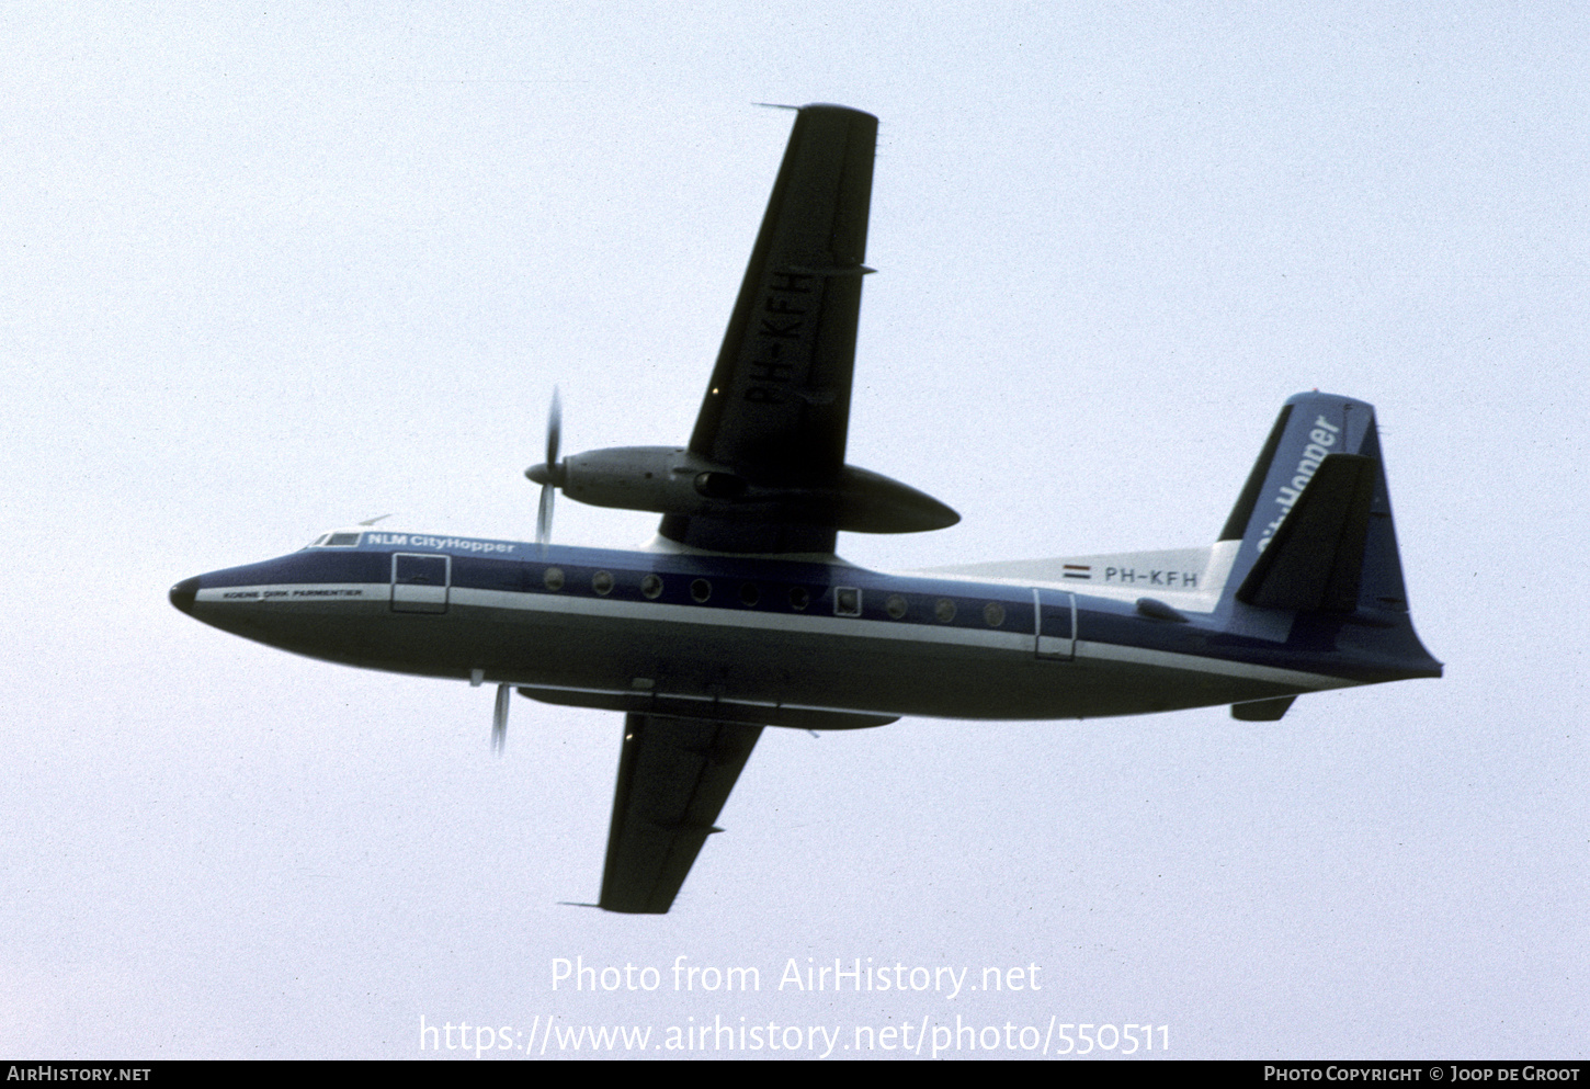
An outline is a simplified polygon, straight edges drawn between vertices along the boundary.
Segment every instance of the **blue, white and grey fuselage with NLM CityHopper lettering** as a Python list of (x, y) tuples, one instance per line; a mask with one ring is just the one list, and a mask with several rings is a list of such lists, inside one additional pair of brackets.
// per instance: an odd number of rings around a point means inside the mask
[(343, 531), (170, 596), (197, 620), (326, 661), (806, 728), (1129, 715), (1439, 676), (1406, 612), (1232, 599), (1223, 568), (1235, 547), (1188, 550), (1164, 571), (1130, 556), (1054, 564), (1059, 579), (1040, 582)]

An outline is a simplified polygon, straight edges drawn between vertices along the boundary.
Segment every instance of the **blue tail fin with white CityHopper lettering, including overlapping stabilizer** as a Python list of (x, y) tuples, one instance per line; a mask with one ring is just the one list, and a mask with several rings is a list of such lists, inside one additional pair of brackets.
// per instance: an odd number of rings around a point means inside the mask
[(1266, 609), (1406, 614), (1372, 405), (1301, 393), (1282, 409), (1221, 541), (1227, 596)]

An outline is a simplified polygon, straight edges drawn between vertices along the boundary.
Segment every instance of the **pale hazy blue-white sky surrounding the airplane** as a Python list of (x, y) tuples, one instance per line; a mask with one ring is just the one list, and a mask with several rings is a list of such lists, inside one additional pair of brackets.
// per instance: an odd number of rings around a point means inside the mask
[[(0, 1052), (401, 1059), (425, 1017), (517, 1056), (550, 1016), (655, 1056), (1051, 1021), (1585, 1056), (1590, 17), (1215, 8), (0, 8)], [(1320, 388), (1379, 409), (1447, 676), (1280, 723), (768, 730), (628, 917), (560, 903), (617, 715), (515, 700), (498, 762), (490, 688), (170, 607), (388, 512), (533, 536), (553, 385), (569, 451), (684, 442), (789, 135), (755, 102), (881, 118), (849, 459), (964, 517), (843, 555), (1207, 544)], [(555, 537), (653, 528), (563, 502)], [(553, 989), (577, 957), (660, 986)], [(808, 959), (967, 975), (781, 989)], [(1014, 967), (1041, 990), (976, 989)]]

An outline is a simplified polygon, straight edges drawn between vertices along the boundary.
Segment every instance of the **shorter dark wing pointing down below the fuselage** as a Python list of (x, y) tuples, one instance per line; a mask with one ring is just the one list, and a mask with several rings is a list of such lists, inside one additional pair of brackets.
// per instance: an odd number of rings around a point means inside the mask
[(679, 895), (762, 727), (630, 714), (599, 908), (665, 914)]

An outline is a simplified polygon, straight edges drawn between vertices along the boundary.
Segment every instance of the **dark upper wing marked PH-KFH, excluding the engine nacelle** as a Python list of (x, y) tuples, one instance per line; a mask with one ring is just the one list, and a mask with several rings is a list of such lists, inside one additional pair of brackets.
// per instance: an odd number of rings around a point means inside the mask
[[(723, 335), (690, 451), (760, 485), (835, 488), (844, 469), (878, 118), (803, 107)], [(832, 526), (668, 515), (722, 552), (833, 552)]]

